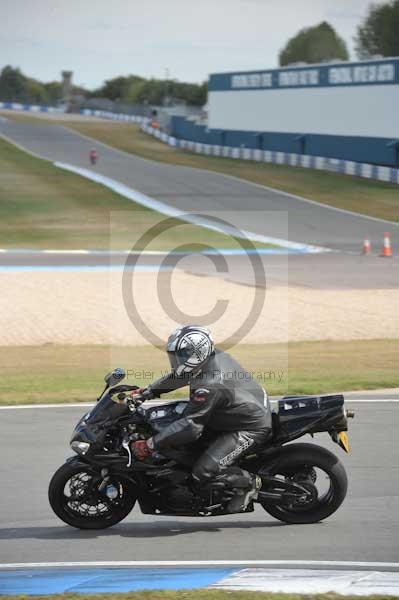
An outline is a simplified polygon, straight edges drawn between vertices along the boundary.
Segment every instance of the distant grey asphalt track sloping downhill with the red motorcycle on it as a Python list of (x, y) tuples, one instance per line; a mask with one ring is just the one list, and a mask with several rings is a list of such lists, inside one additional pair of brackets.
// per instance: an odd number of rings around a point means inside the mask
[[(0, 122), (0, 135), (49, 160), (88, 169), (92, 169), (89, 152), (95, 146), (99, 151), (94, 168), (97, 173), (182, 211), (239, 211), (243, 214), (238, 219), (240, 226), (263, 235), (359, 252), (365, 236), (380, 247), (387, 229), (384, 221), (337, 211), (218, 173), (125, 154), (61, 125), (6, 121)], [(260, 218), (259, 211), (267, 212)], [(389, 223), (391, 233), (396, 227)]]

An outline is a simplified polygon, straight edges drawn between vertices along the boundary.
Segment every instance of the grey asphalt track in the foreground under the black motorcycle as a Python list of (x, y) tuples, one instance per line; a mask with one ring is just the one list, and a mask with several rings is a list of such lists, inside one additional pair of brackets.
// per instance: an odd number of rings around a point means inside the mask
[(64, 525), (47, 501), (49, 479), (71, 454), (71, 430), (88, 409), (1, 410), (0, 562), (398, 561), (399, 402), (348, 406), (356, 411), (349, 456), (327, 434), (314, 439), (338, 454), (350, 482), (345, 503), (327, 521), (284, 525), (261, 508), (246, 516), (172, 519), (144, 516), (136, 508), (119, 525), (97, 532)]

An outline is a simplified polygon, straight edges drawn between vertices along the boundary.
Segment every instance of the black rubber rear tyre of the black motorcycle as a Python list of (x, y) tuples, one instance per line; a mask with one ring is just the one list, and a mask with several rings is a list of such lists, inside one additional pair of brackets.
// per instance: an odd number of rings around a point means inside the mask
[[(270, 465), (265, 465), (259, 475), (292, 476), (301, 469), (319, 469), (330, 479), (329, 490), (318, 498), (308, 509), (306, 506), (288, 506), (262, 502), (260, 504), (272, 517), (285, 523), (317, 523), (332, 515), (345, 499), (348, 479), (344, 466), (329, 450), (315, 444), (291, 444), (281, 448), (277, 456), (273, 456)], [(265, 488), (265, 491), (267, 488)]]

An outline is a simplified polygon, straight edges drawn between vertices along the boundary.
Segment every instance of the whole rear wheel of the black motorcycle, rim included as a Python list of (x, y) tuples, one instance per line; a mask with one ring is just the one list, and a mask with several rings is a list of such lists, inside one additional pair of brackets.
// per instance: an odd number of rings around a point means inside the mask
[[(307, 499), (285, 500), (281, 503), (259, 502), (270, 515), (285, 523), (317, 523), (332, 515), (345, 499), (348, 479), (338, 458), (315, 444), (291, 444), (281, 448), (270, 465), (259, 475), (271, 475), (288, 480), (308, 490)], [(265, 486), (264, 491), (268, 488)]]

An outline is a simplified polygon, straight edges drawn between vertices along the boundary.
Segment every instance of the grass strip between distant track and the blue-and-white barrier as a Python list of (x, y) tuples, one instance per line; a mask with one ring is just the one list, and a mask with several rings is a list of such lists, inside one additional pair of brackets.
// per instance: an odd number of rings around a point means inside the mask
[(399, 221), (397, 185), (315, 169), (199, 156), (171, 148), (143, 133), (134, 124), (75, 122), (65, 125), (143, 158), (234, 175), (329, 206)]

